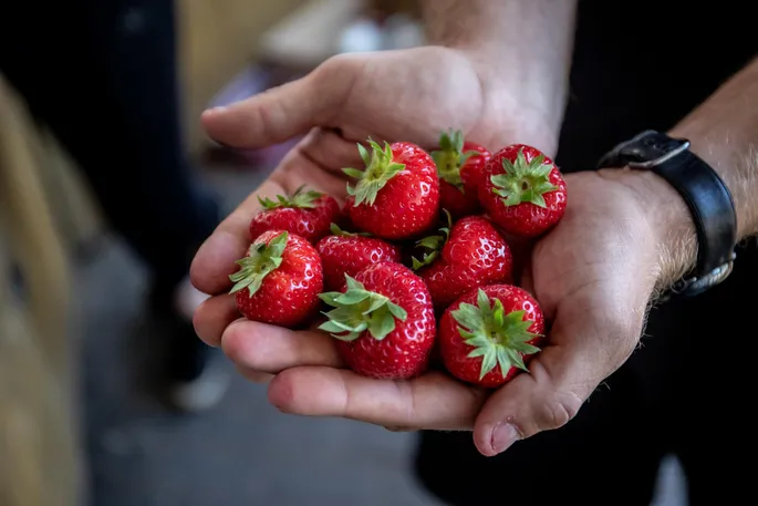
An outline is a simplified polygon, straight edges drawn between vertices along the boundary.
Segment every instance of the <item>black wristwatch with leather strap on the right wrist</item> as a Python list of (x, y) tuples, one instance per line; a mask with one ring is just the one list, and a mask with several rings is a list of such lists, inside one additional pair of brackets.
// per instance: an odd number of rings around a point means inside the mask
[(731, 273), (737, 242), (734, 199), (716, 171), (689, 151), (688, 140), (648, 130), (616, 145), (598, 166), (651, 171), (678, 192), (692, 213), (697, 230), (697, 261), (662, 300), (696, 296)]

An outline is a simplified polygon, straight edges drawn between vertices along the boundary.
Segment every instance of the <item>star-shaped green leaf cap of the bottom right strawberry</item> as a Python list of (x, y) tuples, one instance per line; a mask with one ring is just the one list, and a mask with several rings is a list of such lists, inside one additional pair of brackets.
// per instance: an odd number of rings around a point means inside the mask
[(520, 353), (537, 353), (539, 348), (529, 341), (541, 334), (529, 332), (533, 321), (525, 321), (526, 311), (511, 311), (506, 314), (502, 302), (495, 299), (490, 306), (489, 297), (479, 289), (477, 306), (461, 303), (451, 312), (453, 318), (460, 324), (458, 332), (466, 344), (474, 347), (468, 358), (481, 357), (482, 379), (488, 372), (500, 366), (505, 378), (512, 366), (528, 371)]

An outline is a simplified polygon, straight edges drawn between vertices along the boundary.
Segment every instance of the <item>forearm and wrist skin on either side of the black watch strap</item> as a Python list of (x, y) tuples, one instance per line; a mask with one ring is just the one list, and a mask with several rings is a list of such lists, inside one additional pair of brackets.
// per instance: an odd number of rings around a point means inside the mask
[[(669, 135), (688, 138), (690, 149), (721, 176), (737, 211), (738, 239), (758, 233), (758, 59), (719, 87)], [(674, 189), (646, 175), (652, 208), (661, 220), (662, 285), (693, 267), (697, 240), (689, 211)]]

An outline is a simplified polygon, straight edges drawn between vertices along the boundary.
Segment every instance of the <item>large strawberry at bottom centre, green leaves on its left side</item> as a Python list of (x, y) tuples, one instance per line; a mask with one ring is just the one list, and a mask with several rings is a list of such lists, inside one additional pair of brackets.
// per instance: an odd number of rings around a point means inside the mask
[(429, 290), (407, 267), (382, 261), (355, 278), (345, 276), (341, 291), (322, 293), (335, 309), (321, 327), (338, 339), (347, 366), (383, 380), (407, 380), (423, 373), (435, 341)]

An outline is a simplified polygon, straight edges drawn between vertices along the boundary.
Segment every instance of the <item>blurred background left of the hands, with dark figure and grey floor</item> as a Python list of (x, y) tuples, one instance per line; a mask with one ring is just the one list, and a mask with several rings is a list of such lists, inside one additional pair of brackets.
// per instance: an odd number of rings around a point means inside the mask
[(200, 113), (423, 44), (417, 3), (63, 3), (0, 19), (0, 505), (437, 504), (413, 434), (283, 415), (197, 340), (160, 353), (199, 241), (291, 146), (230, 152)]

